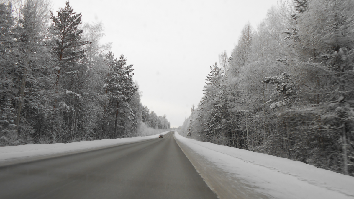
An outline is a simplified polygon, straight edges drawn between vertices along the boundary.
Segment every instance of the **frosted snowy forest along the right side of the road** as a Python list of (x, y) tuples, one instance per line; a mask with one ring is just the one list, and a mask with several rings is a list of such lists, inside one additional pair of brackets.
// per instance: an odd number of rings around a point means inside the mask
[(211, 63), (178, 132), (354, 176), (354, 1), (288, 0)]

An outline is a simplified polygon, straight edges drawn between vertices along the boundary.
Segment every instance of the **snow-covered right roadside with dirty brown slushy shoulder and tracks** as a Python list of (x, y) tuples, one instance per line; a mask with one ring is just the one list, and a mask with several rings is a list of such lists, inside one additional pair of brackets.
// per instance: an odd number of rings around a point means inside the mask
[(299, 161), (185, 138), (175, 139), (220, 198), (354, 198), (354, 177)]

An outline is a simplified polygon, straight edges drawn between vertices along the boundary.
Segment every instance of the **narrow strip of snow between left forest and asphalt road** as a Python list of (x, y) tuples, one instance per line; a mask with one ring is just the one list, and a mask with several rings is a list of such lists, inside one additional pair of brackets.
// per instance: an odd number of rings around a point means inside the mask
[(132, 142), (139, 142), (158, 138), (160, 134), (165, 135), (170, 131), (146, 137), (127, 137), (110, 140), (93, 140), (71, 143), (55, 144), (26, 144), (19, 146), (0, 147), (0, 166), (19, 163), (23, 160), (34, 160), (46, 158), (53, 155), (64, 155), (68, 153), (78, 153), (86, 150), (99, 149), (109, 146), (118, 146)]

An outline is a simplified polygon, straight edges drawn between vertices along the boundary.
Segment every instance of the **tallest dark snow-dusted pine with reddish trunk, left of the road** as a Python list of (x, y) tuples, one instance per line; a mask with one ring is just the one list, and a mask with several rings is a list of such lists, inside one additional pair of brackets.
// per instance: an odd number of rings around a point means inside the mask
[[(57, 16), (51, 13), (53, 21), (50, 31), (53, 35), (54, 55), (56, 56), (56, 80), (54, 108), (57, 110), (57, 101), (65, 103), (69, 109), (60, 112), (60, 117), (65, 121), (65, 131), (70, 132), (66, 140), (73, 141), (78, 131), (79, 120), (86, 117), (87, 112), (81, 109), (88, 106), (84, 100), (85, 92), (90, 79), (90, 70), (85, 60), (84, 45), (89, 41), (82, 39), (83, 30), (79, 29), (81, 24), (81, 13), (76, 14), (70, 6), (69, 1), (65, 2), (64, 8), (59, 8)], [(81, 110), (81, 111), (80, 111)], [(85, 114), (84, 114), (85, 113)], [(81, 121), (84, 121), (81, 119)], [(83, 124), (85, 125), (85, 124)]]

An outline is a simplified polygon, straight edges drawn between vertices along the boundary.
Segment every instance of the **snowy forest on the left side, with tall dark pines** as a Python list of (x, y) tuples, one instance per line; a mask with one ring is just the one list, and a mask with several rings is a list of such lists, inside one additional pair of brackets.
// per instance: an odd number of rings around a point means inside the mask
[[(168, 129), (140, 101), (133, 65), (101, 44), (101, 23), (66, 2), (0, 4), (0, 146), (144, 136)], [(160, 132), (160, 131), (159, 131)]]

